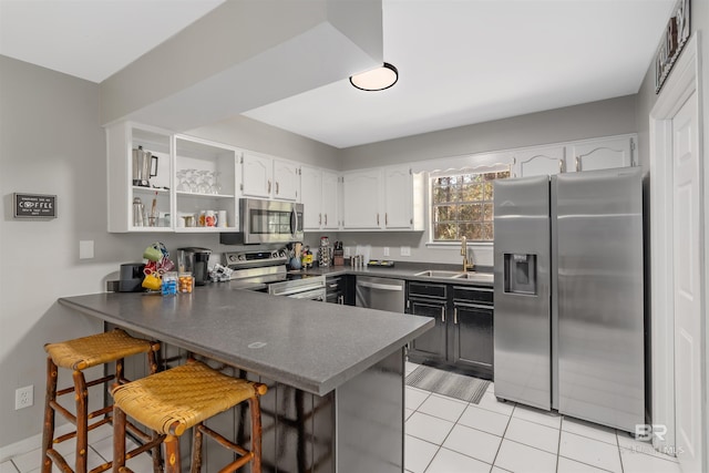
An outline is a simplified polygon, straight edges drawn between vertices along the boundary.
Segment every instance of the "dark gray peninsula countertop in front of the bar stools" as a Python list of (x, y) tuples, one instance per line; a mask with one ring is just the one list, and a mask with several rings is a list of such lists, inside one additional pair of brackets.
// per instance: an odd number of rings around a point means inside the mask
[(105, 292), (59, 302), (318, 395), (434, 325), (428, 317), (274, 297), (229, 282), (192, 295)]

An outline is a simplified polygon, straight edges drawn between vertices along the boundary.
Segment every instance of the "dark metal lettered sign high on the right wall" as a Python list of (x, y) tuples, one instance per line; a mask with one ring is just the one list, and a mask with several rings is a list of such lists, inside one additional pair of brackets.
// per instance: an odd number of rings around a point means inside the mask
[(678, 0), (660, 45), (655, 54), (655, 93), (662, 89), (665, 80), (679, 58), (685, 43), (689, 39), (689, 0)]

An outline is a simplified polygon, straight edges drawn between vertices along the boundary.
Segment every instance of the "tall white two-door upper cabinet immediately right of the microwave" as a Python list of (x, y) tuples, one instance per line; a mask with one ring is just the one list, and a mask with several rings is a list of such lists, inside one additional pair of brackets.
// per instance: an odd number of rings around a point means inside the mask
[(304, 229), (339, 228), (339, 175), (312, 166), (300, 166), (300, 202), (304, 205)]

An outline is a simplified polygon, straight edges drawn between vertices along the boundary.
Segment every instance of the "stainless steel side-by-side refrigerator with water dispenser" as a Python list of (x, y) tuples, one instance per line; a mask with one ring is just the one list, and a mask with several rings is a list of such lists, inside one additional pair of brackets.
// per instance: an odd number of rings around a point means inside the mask
[(639, 168), (495, 182), (495, 395), (645, 423)]

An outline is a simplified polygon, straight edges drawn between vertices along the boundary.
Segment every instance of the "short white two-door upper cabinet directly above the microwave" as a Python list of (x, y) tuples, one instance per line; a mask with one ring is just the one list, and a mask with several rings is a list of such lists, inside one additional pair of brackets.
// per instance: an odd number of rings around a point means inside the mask
[(242, 156), (242, 195), (296, 200), (300, 189), (298, 164), (253, 152)]

